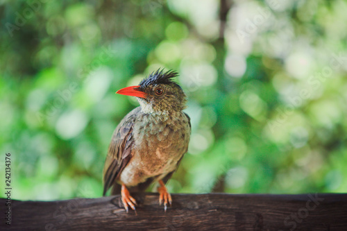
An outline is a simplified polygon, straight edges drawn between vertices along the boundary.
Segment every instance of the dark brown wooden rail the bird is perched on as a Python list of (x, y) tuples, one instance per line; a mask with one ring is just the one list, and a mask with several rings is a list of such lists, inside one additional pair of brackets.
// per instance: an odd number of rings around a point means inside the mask
[[(173, 194), (164, 212), (158, 194), (133, 194), (137, 214), (119, 196), (11, 201), (0, 230), (346, 230), (347, 194)], [(6, 199), (0, 199), (1, 214)], [(6, 212), (6, 211), (5, 211)]]

